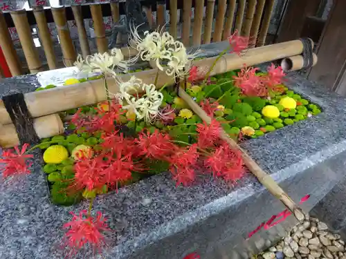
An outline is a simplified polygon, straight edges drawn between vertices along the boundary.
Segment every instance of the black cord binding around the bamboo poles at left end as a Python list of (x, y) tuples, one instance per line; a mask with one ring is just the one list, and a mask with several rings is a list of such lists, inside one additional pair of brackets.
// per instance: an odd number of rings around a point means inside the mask
[(23, 93), (13, 93), (2, 97), (6, 111), (15, 125), (20, 144), (37, 144), (39, 137), (36, 134), (33, 117), (31, 117)]

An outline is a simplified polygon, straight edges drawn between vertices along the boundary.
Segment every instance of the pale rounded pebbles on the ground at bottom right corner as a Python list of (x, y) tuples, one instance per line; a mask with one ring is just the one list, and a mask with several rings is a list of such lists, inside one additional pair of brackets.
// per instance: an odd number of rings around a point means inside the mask
[(257, 256), (257, 259), (346, 259), (345, 242), (327, 224), (310, 217), (293, 227), (289, 236)]

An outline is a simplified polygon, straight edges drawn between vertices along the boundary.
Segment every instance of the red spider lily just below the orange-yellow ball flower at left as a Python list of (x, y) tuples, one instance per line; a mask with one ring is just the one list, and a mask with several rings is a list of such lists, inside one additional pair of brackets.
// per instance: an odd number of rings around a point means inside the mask
[(102, 188), (107, 183), (103, 173), (106, 168), (107, 161), (104, 161), (102, 156), (88, 158), (88, 156), (82, 155), (74, 165), (75, 178), (70, 189), (91, 191)]

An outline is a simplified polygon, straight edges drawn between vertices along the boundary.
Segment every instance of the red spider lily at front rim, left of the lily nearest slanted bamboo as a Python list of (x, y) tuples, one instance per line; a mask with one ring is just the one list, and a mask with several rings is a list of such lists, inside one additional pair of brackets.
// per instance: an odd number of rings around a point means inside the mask
[(176, 180), (176, 186), (183, 184), (188, 186), (195, 179), (194, 168), (196, 167), (199, 153), (197, 152), (197, 145), (192, 144), (188, 149), (181, 148), (180, 151), (174, 153), (170, 159), (170, 172), (173, 179)]

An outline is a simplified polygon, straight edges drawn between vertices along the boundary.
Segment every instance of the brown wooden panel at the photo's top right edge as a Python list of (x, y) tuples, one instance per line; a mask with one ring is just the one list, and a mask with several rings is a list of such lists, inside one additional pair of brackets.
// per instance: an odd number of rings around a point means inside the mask
[(346, 1), (334, 0), (317, 48), (318, 63), (311, 68), (309, 80), (346, 96)]

